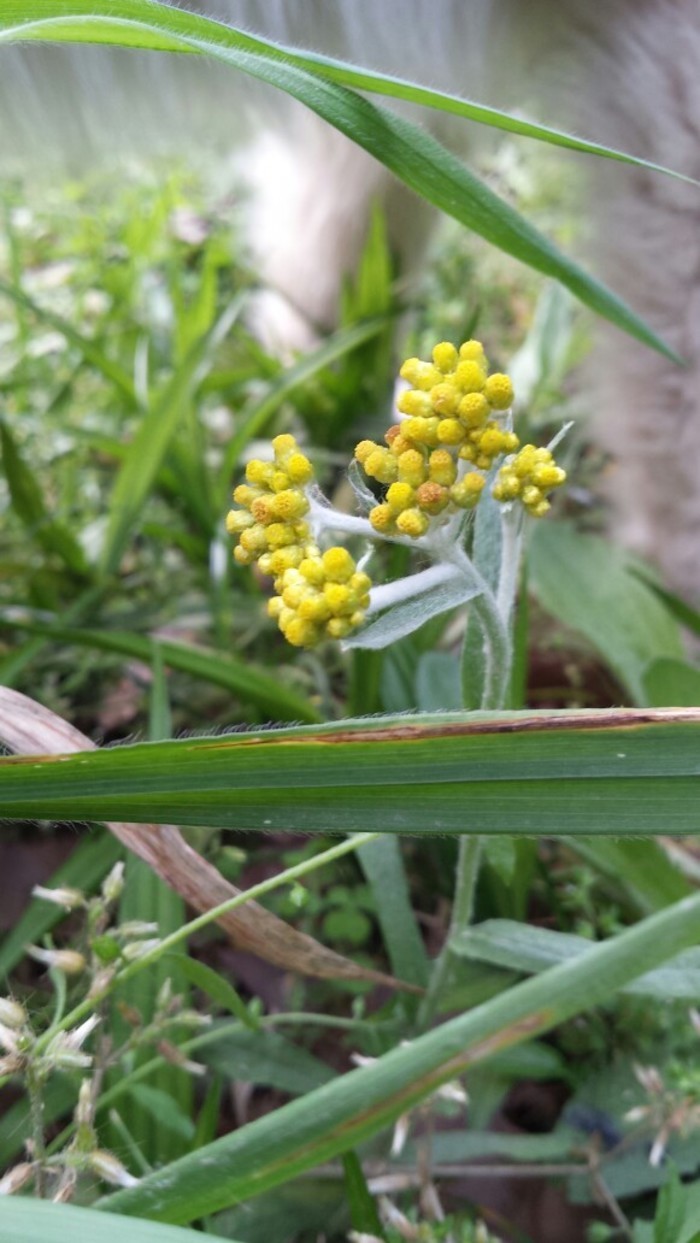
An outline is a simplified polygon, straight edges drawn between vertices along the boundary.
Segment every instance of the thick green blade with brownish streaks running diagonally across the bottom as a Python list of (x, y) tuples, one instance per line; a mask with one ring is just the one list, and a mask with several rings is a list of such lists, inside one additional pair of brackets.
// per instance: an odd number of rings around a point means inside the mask
[(394, 1049), (369, 1066), (226, 1135), (137, 1187), (111, 1212), (189, 1222), (287, 1182), (375, 1135), (449, 1079), (608, 1001), (700, 936), (700, 896), (653, 915)]

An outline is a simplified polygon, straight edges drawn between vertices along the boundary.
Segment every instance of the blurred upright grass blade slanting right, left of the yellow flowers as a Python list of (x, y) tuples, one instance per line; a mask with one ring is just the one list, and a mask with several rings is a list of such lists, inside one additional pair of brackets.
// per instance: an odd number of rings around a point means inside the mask
[(240, 293), (233, 298), (214, 327), (191, 347), (162, 395), (145, 414), (129, 445), (109, 500), (109, 518), (102, 551), (102, 569), (106, 574), (118, 568), (183, 411), (201, 375), (211, 365), (214, 353), (240, 313), (246, 296)]

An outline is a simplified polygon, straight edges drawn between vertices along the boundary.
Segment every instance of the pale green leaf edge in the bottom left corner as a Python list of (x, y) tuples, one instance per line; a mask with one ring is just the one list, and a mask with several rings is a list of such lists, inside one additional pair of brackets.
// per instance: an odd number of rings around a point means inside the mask
[[(199, 1231), (183, 1231), (158, 1222), (126, 1222), (93, 1208), (51, 1204), (45, 1199), (2, 1196), (0, 1238), (2, 1243), (201, 1243)], [(231, 1241), (235, 1243), (235, 1241)]]

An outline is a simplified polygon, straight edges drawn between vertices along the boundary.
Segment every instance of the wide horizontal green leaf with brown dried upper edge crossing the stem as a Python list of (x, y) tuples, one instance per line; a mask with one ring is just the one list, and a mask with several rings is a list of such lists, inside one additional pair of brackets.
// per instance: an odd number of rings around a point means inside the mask
[[(0, 690), (2, 716), (16, 716)], [(700, 830), (700, 713), (384, 717), (0, 758), (17, 819), (298, 833), (617, 837)]]

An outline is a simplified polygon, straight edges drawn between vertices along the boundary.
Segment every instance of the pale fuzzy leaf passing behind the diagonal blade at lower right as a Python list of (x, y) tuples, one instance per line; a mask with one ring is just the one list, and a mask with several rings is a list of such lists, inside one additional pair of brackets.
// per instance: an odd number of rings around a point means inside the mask
[[(516, 920), (486, 920), (466, 929), (451, 941), (455, 953), (479, 962), (490, 962), (510, 971), (546, 971), (560, 962), (571, 962), (591, 948), (592, 942), (571, 932), (555, 932)], [(623, 992), (634, 997), (656, 997), (661, 1001), (698, 1001), (700, 997), (700, 950), (685, 950), (678, 958), (665, 962)]]

